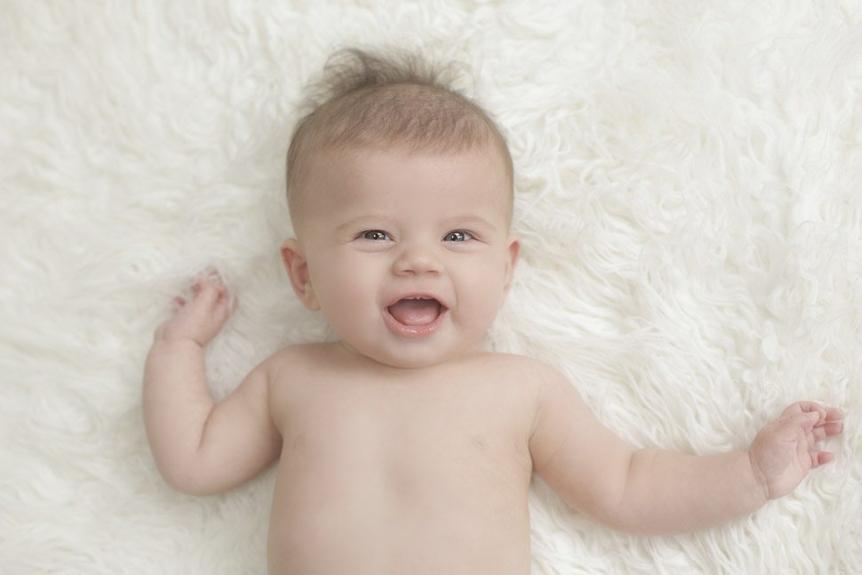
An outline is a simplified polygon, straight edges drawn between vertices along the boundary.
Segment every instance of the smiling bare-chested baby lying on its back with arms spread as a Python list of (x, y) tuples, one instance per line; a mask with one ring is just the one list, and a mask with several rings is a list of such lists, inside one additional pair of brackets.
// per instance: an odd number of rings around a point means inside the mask
[(193, 494), (277, 461), (271, 573), (530, 572), (541, 476), (613, 529), (751, 514), (833, 459), (842, 412), (790, 405), (748, 451), (635, 449), (551, 367), (483, 349), (512, 281), (513, 169), (491, 117), (418, 60), (347, 51), (288, 153), (293, 291), (339, 340), (286, 347), (214, 403), (204, 346), (235, 304), (218, 276), (156, 330), (144, 376), (159, 471)]

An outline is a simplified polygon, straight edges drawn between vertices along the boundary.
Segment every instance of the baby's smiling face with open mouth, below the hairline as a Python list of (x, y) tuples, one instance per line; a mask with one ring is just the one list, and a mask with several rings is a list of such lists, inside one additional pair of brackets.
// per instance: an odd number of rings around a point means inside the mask
[(299, 239), (285, 244), (307, 263), (291, 271), (294, 286), (306, 276), (306, 305), (347, 350), (380, 363), (421, 367), (475, 351), (519, 249), (507, 186), (491, 147), (324, 153), (303, 190)]

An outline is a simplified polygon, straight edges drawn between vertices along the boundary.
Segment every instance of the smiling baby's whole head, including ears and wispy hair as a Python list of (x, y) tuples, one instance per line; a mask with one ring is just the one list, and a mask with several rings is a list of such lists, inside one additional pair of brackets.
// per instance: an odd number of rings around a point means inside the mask
[(293, 288), (380, 363), (477, 350), (519, 249), (506, 140), (415, 57), (337, 56), (288, 152)]

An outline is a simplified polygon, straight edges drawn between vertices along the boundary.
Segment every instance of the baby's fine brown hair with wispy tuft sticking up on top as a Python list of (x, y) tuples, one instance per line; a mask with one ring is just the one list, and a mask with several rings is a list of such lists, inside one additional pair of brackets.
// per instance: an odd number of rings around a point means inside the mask
[(287, 201), (296, 223), (300, 188), (315, 152), (401, 146), (457, 152), (491, 142), (499, 149), (512, 194), (513, 167), (498, 124), (451, 87), (455, 64), (433, 65), (419, 54), (346, 48), (326, 61), (307, 88), (287, 153)]

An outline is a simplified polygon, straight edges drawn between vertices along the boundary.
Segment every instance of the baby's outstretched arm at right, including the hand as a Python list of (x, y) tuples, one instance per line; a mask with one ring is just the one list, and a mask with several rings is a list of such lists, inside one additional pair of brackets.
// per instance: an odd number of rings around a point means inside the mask
[(753, 513), (832, 459), (813, 443), (842, 430), (842, 412), (794, 403), (748, 451), (709, 456), (635, 450), (555, 375), (539, 400), (533, 467), (574, 508), (622, 531), (695, 531)]

